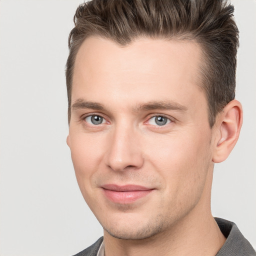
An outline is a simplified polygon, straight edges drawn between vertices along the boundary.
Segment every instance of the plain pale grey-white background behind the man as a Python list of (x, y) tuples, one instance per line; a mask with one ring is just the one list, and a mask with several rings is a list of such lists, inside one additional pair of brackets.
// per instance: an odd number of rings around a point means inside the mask
[[(102, 235), (65, 138), (67, 36), (81, 0), (0, 0), (0, 256), (72, 255)], [(215, 165), (212, 212), (256, 247), (256, 1), (233, 0), (240, 30), (240, 139)]]

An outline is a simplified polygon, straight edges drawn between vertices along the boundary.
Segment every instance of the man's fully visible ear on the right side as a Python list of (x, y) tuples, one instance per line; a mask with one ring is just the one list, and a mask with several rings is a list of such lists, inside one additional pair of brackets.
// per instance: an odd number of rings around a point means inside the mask
[(222, 162), (227, 158), (239, 137), (241, 125), (242, 106), (238, 100), (234, 99), (216, 117), (213, 162)]

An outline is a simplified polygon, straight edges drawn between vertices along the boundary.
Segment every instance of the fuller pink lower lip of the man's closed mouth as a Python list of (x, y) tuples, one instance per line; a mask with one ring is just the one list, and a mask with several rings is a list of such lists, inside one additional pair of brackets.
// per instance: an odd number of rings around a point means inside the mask
[(139, 198), (148, 195), (150, 192), (152, 192), (152, 190), (153, 189), (138, 191), (113, 191), (103, 188), (103, 193), (112, 202), (126, 204), (135, 202)]

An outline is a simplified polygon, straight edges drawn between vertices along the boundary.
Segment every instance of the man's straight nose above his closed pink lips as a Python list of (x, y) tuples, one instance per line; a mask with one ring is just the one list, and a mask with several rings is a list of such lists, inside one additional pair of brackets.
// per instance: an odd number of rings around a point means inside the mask
[(139, 169), (143, 165), (139, 134), (131, 127), (115, 127), (109, 140), (105, 160), (112, 170)]

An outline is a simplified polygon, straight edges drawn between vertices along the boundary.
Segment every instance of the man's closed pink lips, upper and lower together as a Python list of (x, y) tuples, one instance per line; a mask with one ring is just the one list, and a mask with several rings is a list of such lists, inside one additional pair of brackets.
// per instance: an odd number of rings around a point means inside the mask
[(114, 203), (128, 204), (135, 202), (136, 200), (145, 197), (154, 188), (148, 188), (141, 185), (116, 185), (105, 184), (102, 185), (103, 194), (107, 199)]

